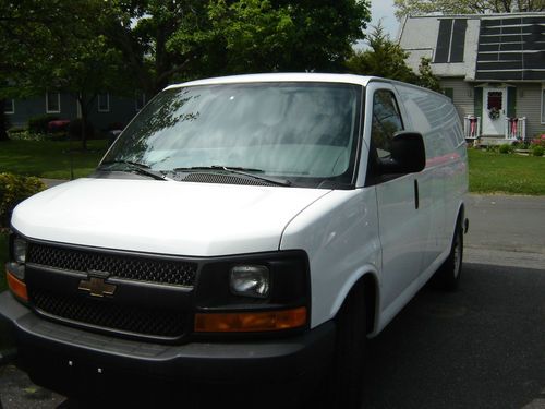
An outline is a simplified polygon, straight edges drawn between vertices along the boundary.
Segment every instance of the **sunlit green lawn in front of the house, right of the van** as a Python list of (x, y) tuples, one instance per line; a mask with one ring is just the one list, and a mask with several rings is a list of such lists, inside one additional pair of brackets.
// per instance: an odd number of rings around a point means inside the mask
[(468, 149), (470, 192), (545, 195), (545, 157)]

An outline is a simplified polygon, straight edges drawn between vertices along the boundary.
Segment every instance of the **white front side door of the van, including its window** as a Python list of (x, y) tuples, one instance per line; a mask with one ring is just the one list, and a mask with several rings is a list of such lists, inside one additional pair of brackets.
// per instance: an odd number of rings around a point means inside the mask
[[(393, 87), (367, 87), (367, 118), (372, 119), (370, 160), (390, 157), (393, 134), (404, 130)], [(372, 109), (372, 111), (370, 111)], [(370, 172), (374, 172), (370, 170)], [(420, 173), (374, 180), (383, 249), (380, 303), (385, 316), (395, 313), (415, 291), (429, 236), (429, 214), (419, 207)]]

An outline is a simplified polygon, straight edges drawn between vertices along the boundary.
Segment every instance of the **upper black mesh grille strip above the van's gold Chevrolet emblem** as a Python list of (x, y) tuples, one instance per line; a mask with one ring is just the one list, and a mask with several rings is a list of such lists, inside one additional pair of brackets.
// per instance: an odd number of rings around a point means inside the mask
[(110, 278), (193, 287), (197, 264), (31, 243), (27, 262), (71, 272), (109, 273)]

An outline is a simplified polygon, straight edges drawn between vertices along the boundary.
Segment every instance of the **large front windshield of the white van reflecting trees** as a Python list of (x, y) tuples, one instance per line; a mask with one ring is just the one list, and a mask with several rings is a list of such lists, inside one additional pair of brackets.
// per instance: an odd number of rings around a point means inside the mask
[[(162, 173), (233, 168), (293, 185), (350, 185), (362, 89), (335, 83), (252, 83), (167, 89), (102, 160)], [(169, 175), (170, 176), (170, 175)]]

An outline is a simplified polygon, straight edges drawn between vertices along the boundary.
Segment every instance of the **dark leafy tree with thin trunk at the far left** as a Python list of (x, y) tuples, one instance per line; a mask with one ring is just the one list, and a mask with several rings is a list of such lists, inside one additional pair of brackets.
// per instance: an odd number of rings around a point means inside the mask
[[(0, 0), (0, 99), (69, 91), (81, 103), (85, 123), (89, 101), (123, 84), (121, 55), (100, 33), (108, 3)], [(5, 125), (0, 121), (2, 132)], [(86, 148), (85, 131), (82, 144)]]

